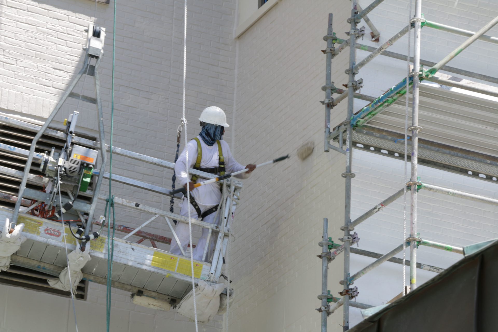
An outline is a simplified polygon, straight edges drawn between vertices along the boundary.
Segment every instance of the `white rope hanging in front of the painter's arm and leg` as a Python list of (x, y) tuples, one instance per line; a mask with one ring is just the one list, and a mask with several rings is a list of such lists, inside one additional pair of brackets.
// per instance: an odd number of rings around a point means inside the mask
[[(183, 96), (182, 96), (182, 119), (184, 126), (184, 137), (185, 137), (185, 147), (188, 144), (187, 140), (187, 119), (185, 118), (185, 82), (187, 77), (187, 0), (184, 0), (184, 20), (183, 20)], [(189, 171), (188, 162), (188, 149), (185, 149), (185, 159), (187, 163), (187, 179)], [(190, 267), (192, 272), (192, 294), (194, 298), (194, 316), (195, 316), (195, 331), (199, 332), (199, 325), (197, 323), (197, 302), (195, 299), (195, 279), (194, 279), (194, 251), (192, 245), (192, 222), (190, 220), (190, 190), (189, 183), (187, 182), (187, 204), (188, 204), (188, 231), (189, 231), (189, 243), (190, 243)], [(201, 217), (201, 216), (198, 216)]]

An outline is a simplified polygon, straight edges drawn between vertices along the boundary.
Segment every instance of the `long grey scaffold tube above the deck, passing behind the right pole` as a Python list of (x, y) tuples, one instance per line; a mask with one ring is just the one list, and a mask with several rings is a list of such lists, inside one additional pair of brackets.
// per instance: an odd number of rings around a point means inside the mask
[[(341, 39), (341, 38), (337, 38), (334, 41), (335, 41), (336, 44), (340, 44), (339, 47), (335, 48), (335, 52), (334, 52), (335, 55), (339, 54), (343, 49), (345, 49), (346, 47), (349, 46), (349, 40), (344, 40), (344, 39)], [(368, 45), (365, 45), (365, 44), (359, 44), (359, 43), (356, 43), (355, 47), (358, 48), (358, 49), (361, 49), (362, 51), (367, 51), (367, 52), (373, 52), (373, 51), (376, 50), (375, 47), (368, 46)], [(406, 55), (404, 55), (404, 54), (395, 53), (395, 52), (391, 52), (391, 51), (383, 51), (380, 54), (383, 55), (383, 56), (387, 56), (389, 58), (406, 61)], [(413, 58), (412, 57), (410, 57), (410, 61), (413, 62)], [(426, 67), (432, 67), (436, 63), (420, 59), (420, 64), (424, 65)], [(457, 75), (463, 75), (463, 76), (471, 77), (471, 78), (474, 78), (476, 80), (483, 80), (483, 81), (486, 81), (486, 82), (491, 82), (491, 83), (498, 84), (498, 78), (496, 78), (496, 77), (487, 76), (487, 75), (483, 75), (483, 74), (471, 72), (471, 71), (468, 71), (468, 70), (463, 70), (463, 69), (460, 69), (460, 68), (455, 68), (455, 67), (450, 67), (450, 66), (443, 66), (440, 70), (445, 71), (445, 72), (449, 72), (449, 73), (453, 73), (453, 74), (457, 74)]]

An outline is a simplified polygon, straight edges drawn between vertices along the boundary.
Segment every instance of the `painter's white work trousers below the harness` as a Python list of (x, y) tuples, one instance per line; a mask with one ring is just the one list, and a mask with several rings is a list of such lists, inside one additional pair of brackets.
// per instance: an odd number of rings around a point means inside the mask
[[(212, 208), (214, 205), (208, 206), (208, 205), (198, 204), (198, 206), (201, 209), (201, 212), (204, 212), (204, 211)], [(180, 210), (180, 216), (188, 217), (188, 210), (187, 210), (188, 208), (187, 207), (190, 207), (190, 218), (199, 219), (198, 218), (199, 216), (197, 216), (197, 212), (195, 211), (192, 204), (190, 204), (190, 202), (187, 201), (186, 197), (182, 203), (182, 208)], [(206, 216), (203, 221), (213, 223), (213, 221), (215, 221), (216, 215), (217, 215), (217, 212), (213, 212), (209, 216)], [(218, 220), (219, 220), (219, 218), (218, 218)], [(192, 232), (194, 231), (194, 229), (198, 229), (198, 228), (199, 228), (198, 226), (192, 225)], [(188, 230), (188, 223), (178, 221), (176, 224), (176, 227), (175, 227), (175, 232), (176, 232), (176, 235), (178, 236), (178, 239), (180, 240), (183, 251), (185, 251), (185, 253), (188, 254), (190, 252), (190, 248), (187, 248), (187, 245), (189, 243), (189, 237), (190, 237), (189, 230)], [(194, 252), (193, 252), (195, 260), (202, 261), (202, 255), (204, 253), (204, 248), (206, 246), (208, 232), (209, 232), (208, 228), (202, 228), (201, 238), (199, 238), (199, 241), (197, 242), (197, 244), (194, 248)], [(210, 244), (208, 247), (208, 251), (206, 253), (206, 259), (205, 259), (206, 262), (208, 261), (208, 258), (211, 255), (213, 248), (214, 248), (214, 238), (216, 238), (216, 236), (213, 236), (213, 235), (214, 235), (214, 233), (211, 234), (211, 239), (209, 241)], [(171, 252), (172, 254), (175, 254), (175, 255), (182, 254), (180, 247), (178, 246), (178, 243), (176, 242), (174, 237), (171, 239), (171, 247), (169, 249), (169, 252)]]

